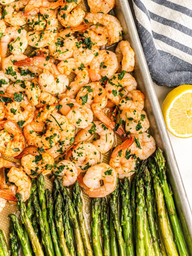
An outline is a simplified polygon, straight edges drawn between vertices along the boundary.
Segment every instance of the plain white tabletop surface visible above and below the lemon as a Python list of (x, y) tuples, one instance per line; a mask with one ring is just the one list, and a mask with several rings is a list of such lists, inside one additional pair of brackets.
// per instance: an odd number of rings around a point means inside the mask
[[(156, 84), (154, 84), (154, 87), (159, 100), (159, 104), (161, 106), (166, 95), (173, 88), (157, 86)], [(170, 132), (168, 132), (168, 134), (192, 209), (192, 137), (188, 139), (180, 139), (173, 136)]]

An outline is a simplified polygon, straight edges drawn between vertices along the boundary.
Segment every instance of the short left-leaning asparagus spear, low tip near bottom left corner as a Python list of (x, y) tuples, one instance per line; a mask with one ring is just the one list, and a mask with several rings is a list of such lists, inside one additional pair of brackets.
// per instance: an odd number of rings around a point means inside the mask
[[(25, 239), (25, 236), (23, 234), (23, 229), (19, 224), (19, 220), (18, 220), (17, 216), (15, 214), (10, 214), (9, 218), (12, 220), (14, 229), (17, 232), (17, 236), (19, 237), (24, 255), (25, 256), (32, 256), (30, 248), (28, 247), (28, 243), (27, 243), (27, 241)], [(14, 251), (15, 251), (15, 247), (14, 247)], [(43, 255), (43, 254), (38, 254), (38, 255)]]

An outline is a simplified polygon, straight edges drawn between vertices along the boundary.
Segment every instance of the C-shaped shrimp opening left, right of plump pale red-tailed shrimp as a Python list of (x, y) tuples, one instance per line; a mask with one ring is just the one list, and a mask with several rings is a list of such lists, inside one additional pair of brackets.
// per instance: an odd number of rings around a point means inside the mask
[(73, 58), (62, 60), (57, 68), (61, 74), (66, 76), (69, 76), (71, 72), (76, 75), (75, 81), (71, 82), (67, 89), (66, 94), (69, 96), (76, 95), (84, 84), (89, 83), (88, 68)]

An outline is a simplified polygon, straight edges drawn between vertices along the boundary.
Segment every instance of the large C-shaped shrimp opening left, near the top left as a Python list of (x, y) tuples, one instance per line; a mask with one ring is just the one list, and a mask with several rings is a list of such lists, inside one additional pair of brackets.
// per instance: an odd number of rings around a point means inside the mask
[(46, 20), (46, 27), (43, 31), (29, 31), (27, 33), (28, 44), (32, 47), (42, 48), (55, 41), (58, 29), (58, 20), (53, 10), (41, 7), (40, 13)]

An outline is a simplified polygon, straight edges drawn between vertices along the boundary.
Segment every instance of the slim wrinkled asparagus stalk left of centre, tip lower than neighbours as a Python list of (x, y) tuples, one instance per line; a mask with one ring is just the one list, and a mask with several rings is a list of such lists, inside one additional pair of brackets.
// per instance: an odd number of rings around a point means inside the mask
[(69, 220), (69, 207), (67, 204), (65, 204), (65, 206), (64, 206), (63, 224), (64, 224), (64, 229), (65, 229), (66, 244), (67, 244), (69, 253), (71, 256), (75, 256), (73, 233), (72, 233), (71, 223)]

